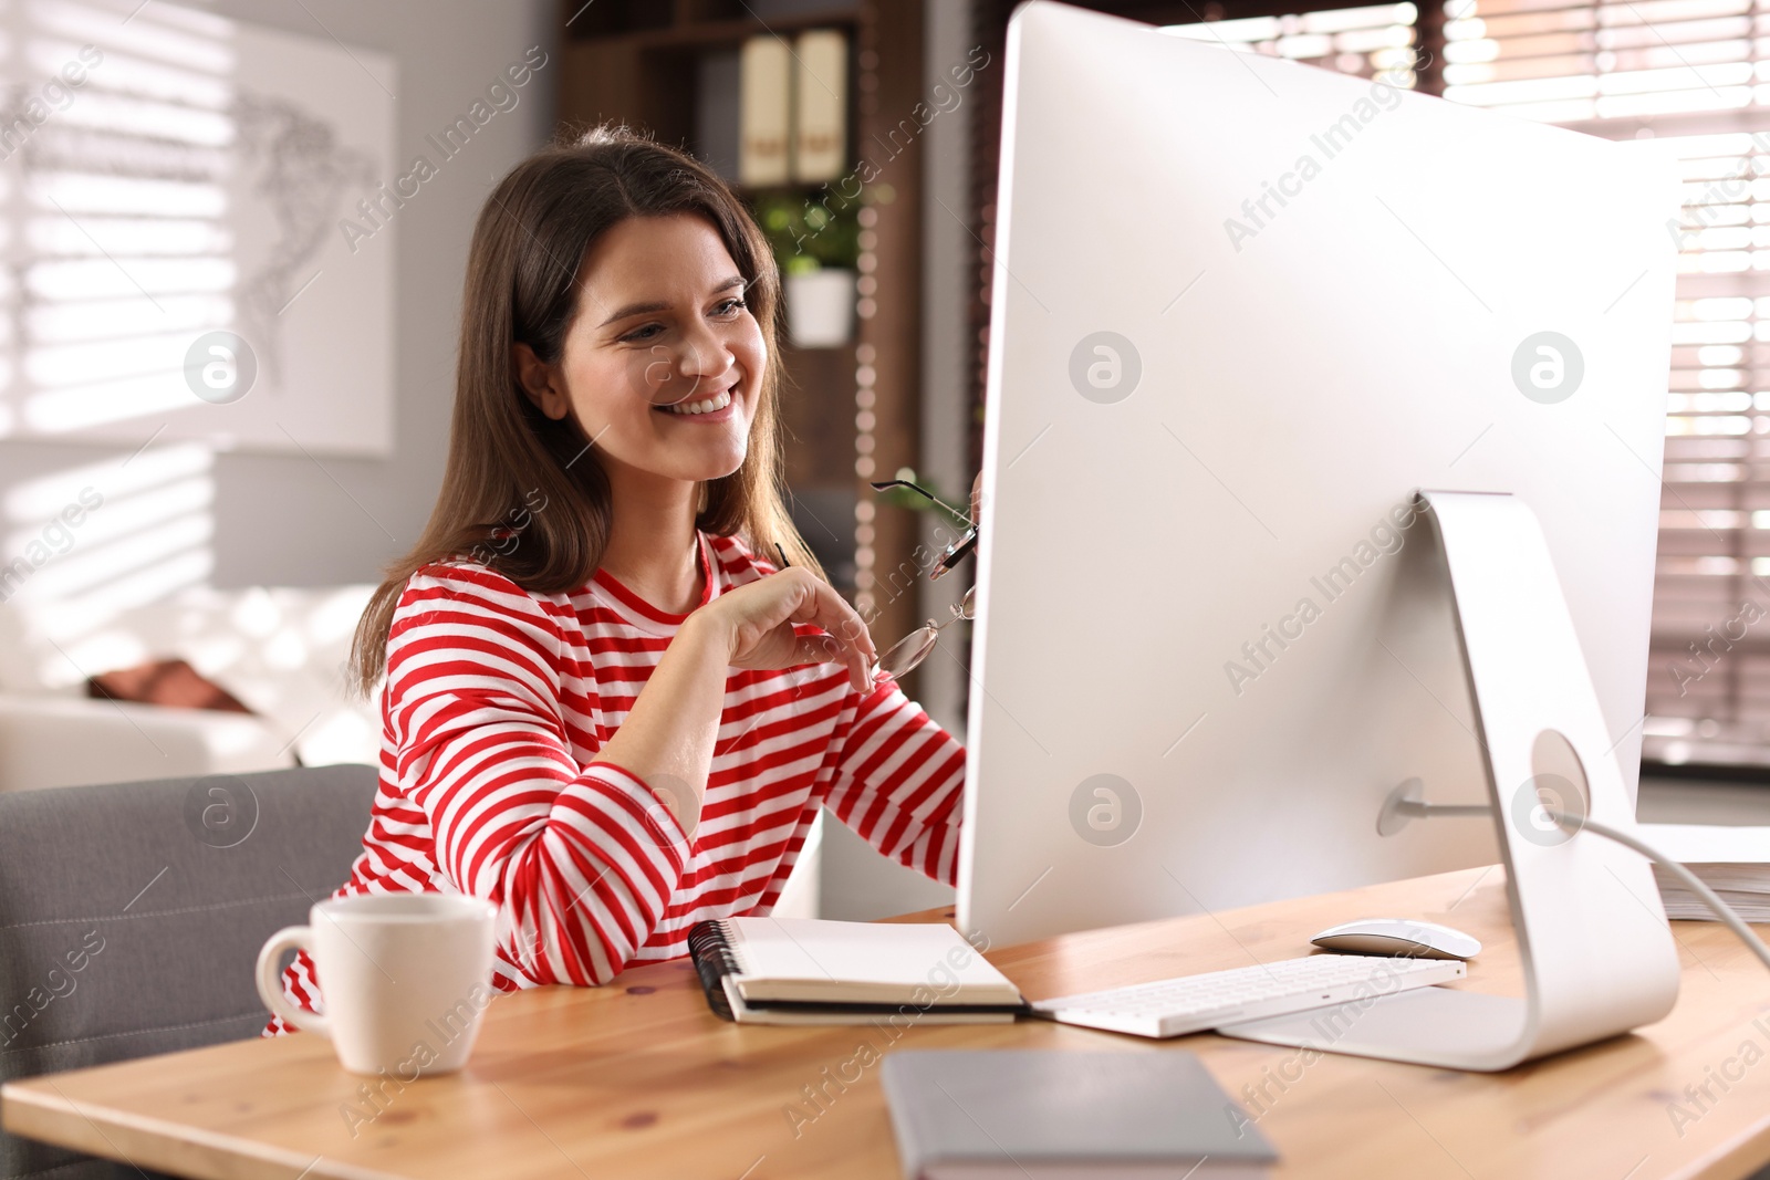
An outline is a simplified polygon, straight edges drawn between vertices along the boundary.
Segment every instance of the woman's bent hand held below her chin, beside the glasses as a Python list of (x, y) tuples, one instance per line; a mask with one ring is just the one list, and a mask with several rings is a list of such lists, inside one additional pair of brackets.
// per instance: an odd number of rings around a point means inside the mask
[[(809, 570), (796, 566), (729, 589), (696, 610), (717, 624), (731, 665), (784, 669), (800, 663), (846, 663), (855, 688), (873, 686), (878, 651), (855, 609)], [(821, 626), (827, 635), (796, 635), (795, 623)]]

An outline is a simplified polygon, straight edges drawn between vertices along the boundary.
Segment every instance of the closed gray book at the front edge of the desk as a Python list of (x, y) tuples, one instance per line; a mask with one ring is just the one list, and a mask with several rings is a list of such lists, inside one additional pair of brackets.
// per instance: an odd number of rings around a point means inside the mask
[(1273, 1145), (1182, 1049), (885, 1058), (904, 1180), (1255, 1180)]

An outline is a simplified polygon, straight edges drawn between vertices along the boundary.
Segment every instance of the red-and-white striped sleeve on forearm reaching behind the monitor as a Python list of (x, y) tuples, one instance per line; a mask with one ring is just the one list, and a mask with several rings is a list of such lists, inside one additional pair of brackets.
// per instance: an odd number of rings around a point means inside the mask
[(890, 678), (860, 697), (839, 741), (830, 810), (885, 856), (952, 885), (965, 747)]

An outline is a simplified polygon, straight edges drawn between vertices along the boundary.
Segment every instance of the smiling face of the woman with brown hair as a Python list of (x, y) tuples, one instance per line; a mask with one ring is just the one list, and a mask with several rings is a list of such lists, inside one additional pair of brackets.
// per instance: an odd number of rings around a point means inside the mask
[(559, 364), (517, 347), (529, 398), (549, 418), (575, 414), (611, 476), (735, 472), (768, 349), (719, 232), (696, 214), (628, 218), (589, 249), (582, 274)]

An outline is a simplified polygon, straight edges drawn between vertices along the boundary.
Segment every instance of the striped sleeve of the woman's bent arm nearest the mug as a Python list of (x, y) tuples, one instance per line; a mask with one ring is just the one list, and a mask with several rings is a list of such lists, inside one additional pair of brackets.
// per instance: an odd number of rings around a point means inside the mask
[(508, 579), (427, 566), (388, 637), (388, 727), (439, 872), (499, 906), (503, 957), (538, 984), (605, 984), (664, 916), (689, 842), (641, 778), (573, 761), (563, 646)]

